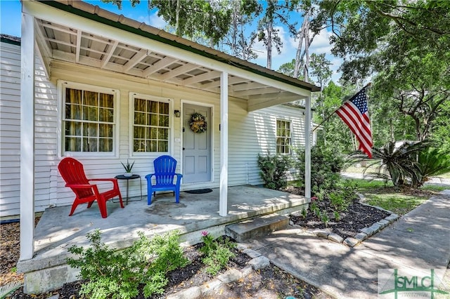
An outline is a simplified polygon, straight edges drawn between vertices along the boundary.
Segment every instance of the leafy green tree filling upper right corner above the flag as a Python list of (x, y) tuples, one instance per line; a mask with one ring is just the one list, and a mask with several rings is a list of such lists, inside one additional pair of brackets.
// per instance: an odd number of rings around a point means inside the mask
[(332, 52), (345, 58), (342, 79), (374, 76), (371, 101), (388, 113), (375, 112), (373, 124), (393, 118), (389, 133), (387, 126), (375, 131), (391, 141), (411, 128), (413, 139), (432, 138), (449, 99), (450, 2), (323, 1), (321, 9), (318, 20), (333, 30)]

